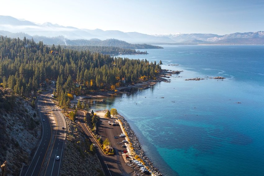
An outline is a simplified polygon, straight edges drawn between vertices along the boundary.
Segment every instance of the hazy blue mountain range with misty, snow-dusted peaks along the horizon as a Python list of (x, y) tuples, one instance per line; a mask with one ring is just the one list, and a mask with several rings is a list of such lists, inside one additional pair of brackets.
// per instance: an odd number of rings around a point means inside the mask
[[(175, 29), (177, 30), (177, 29)], [(8, 31), (8, 32), (7, 32)], [(121, 32), (118, 30), (78, 29), (71, 26), (61, 26), (49, 22), (35, 24), (27, 20), (18, 20), (11, 16), (0, 16), (0, 35), (19, 37), (14, 33), (26, 33), (33, 38), (41, 40), (40, 36), (57, 37), (76, 40), (98, 38), (105, 40), (115, 38), (129, 43), (150, 44), (264, 44), (264, 32), (234, 33), (226, 35), (217, 34), (156, 34), (148, 35), (138, 32)], [(17, 35), (17, 36), (16, 36)]]

